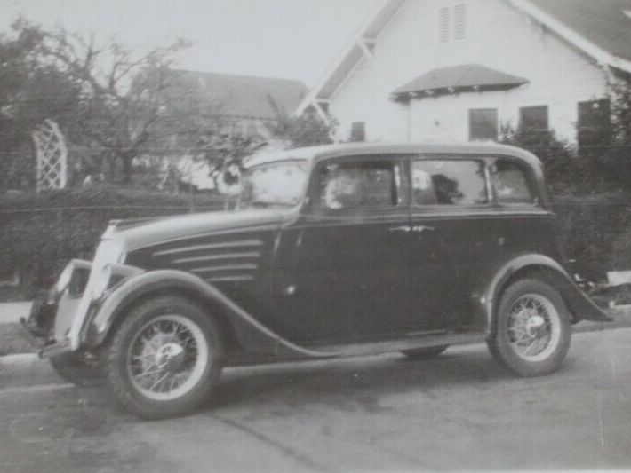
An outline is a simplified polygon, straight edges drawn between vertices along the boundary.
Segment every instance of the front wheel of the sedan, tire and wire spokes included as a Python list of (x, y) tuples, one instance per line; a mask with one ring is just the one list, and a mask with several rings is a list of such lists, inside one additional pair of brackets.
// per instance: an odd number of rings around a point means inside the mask
[(157, 297), (136, 307), (116, 330), (108, 379), (133, 414), (188, 414), (209, 397), (222, 355), (220, 331), (201, 307), (176, 296)]

